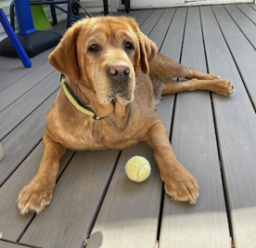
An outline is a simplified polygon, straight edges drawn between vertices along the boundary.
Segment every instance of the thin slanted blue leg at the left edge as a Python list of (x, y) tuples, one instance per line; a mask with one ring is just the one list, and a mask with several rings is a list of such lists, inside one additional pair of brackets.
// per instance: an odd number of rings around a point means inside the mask
[(0, 21), (3, 25), (5, 32), (7, 33), (8, 37), (9, 37), (10, 42), (15, 47), (15, 50), (16, 50), (17, 54), (19, 55), (20, 60), (22, 61), (23, 65), (25, 67), (31, 67), (32, 62), (29, 60), (28, 56), (26, 55), (26, 51), (21, 46), (18, 37), (16, 36), (12, 26), (9, 24), (9, 20), (7, 19), (6, 15), (4, 14), (3, 9), (1, 8), (1, 5), (0, 5)]

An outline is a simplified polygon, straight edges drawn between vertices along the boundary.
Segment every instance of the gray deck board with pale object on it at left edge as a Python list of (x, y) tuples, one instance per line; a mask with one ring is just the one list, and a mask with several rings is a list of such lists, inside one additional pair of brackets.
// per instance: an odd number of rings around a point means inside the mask
[(5, 157), (0, 163), (0, 185), (6, 181), (42, 139), (45, 126), (44, 117), (49, 112), (54, 99), (55, 95), (50, 96), (38, 107), (37, 111), (32, 112), (9, 136), (1, 141)]

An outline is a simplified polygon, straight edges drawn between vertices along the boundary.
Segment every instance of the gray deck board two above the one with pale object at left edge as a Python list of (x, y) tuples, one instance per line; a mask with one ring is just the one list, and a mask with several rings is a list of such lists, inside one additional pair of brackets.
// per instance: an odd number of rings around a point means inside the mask
[[(24, 95), (28, 90), (40, 83), (55, 69), (45, 62), (42, 66), (28, 73), (24, 78), (20, 78), (15, 84), (0, 92), (0, 112), (8, 107), (12, 102)], [(56, 79), (57, 80), (57, 79)]]

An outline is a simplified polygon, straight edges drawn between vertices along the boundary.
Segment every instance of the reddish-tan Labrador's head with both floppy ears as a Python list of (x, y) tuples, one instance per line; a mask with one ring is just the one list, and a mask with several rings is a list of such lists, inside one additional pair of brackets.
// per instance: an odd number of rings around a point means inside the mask
[(105, 105), (126, 105), (134, 98), (136, 74), (148, 73), (156, 45), (126, 17), (84, 19), (67, 30), (49, 55), (49, 63), (75, 82), (95, 90)]

